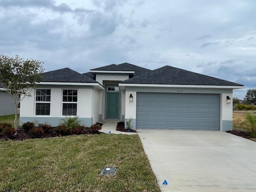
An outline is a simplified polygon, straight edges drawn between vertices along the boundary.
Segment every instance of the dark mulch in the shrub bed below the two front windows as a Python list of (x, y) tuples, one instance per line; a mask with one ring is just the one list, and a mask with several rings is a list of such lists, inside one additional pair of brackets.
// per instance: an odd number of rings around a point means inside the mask
[[(85, 129), (85, 132), (84, 132), (84, 135), (86, 134), (102, 134), (102, 132), (91, 132), (89, 130), (90, 128), (87, 127)], [(51, 138), (51, 137), (59, 137), (59, 136), (62, 136), (58, 133), (56, 133), (53, 129), (50, 129), (48, 132), (42, 134), (41, 136), (38, 136), (38, 137), (35, 137), (33, 134), (29, 133), (29, 132), (26, 132), (24, 131), (23, 129), (17, 129), (17, 134), (14, 136), (14, 137), (11, 137), (11, 138), (8, 138), (6, 136), (4, 136), (3, 134), (0, 134), (0, 139), (1, 140), (26, 140), (26, 139), (34, 139), (34, 138)], [(63, 135), (65, 136), (65, 135)]]

